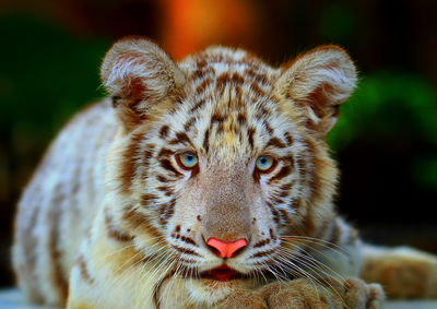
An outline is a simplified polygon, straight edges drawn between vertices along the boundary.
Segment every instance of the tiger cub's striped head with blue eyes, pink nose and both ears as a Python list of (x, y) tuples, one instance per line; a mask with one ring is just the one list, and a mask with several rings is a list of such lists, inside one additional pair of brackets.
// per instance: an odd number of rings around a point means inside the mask
[(115, 219), (144, 254), (162, 250), (200, 277), (192, 288), (268, 273), (285, 247), (299, 250), (286, 237), (320, 237), (332, 221), (324, 138), (356, 83), (341, 48), (271, 68), (221, 47), (176, 63), (127, 38), (102, 79), (120, 123), (108, 165)]

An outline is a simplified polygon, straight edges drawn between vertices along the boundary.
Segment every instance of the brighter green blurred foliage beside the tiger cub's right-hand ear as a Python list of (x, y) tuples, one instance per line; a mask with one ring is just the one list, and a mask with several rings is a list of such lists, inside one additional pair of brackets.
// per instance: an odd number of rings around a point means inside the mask
[(420, 145), (411, 175), (418, 186), (437, 190), (437, 95), (424, 79), (395, 72), (364, 76), (328, 136), (339, 152), (357, 139)]

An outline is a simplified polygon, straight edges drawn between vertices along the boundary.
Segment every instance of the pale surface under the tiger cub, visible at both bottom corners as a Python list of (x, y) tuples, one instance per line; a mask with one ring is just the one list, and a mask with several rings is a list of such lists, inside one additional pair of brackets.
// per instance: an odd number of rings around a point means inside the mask
[[(0, 309), (43, 309), (45, 307), (25, 304), (23, 295), (17, 289), (4, 289), (0, 292)], [(121, 309), (121, 308), (120, 308)], [(437, 299), (388, 301), (383, 309), (437, 309)]]

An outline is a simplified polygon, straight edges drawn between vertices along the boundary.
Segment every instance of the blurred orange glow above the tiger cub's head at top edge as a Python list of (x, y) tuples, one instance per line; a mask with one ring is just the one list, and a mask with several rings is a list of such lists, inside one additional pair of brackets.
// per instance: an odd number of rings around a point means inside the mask
[(176, 59), (211, 44), (250, 45), (256, 12), (249, 0), (165, 0), (162, 43)]

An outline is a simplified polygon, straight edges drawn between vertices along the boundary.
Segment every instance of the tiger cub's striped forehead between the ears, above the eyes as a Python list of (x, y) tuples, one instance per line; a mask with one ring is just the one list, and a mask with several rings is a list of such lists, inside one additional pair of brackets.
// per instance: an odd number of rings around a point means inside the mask
[(186, 133), (197, 150), (245, 157), (290, 131), (272, 97), (279, 70), (227, 48), (206, 49), (179, 66), (187, 76), (185, 95), (164, 121)]

